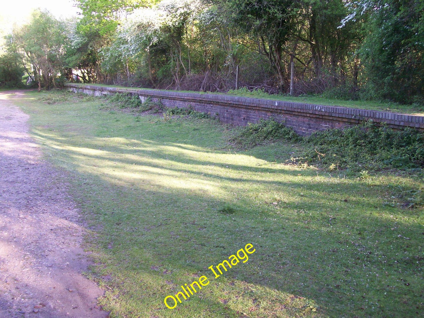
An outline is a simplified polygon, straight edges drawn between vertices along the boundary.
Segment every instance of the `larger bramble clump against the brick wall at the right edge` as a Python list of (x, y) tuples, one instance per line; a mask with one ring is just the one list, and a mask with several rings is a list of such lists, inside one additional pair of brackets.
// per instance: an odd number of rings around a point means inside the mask
[(424, 134), (412, 128), (393, 131), (366, 123), (315, 132), (303, 144), (304, 161), (320, 167), (352, 171), (424, 167)]

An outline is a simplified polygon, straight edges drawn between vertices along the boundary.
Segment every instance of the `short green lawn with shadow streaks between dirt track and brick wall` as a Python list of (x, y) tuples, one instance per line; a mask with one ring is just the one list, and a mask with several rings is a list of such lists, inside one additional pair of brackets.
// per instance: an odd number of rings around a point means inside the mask
[[(239, 152), (215, 120), (38, 97), (15, 103), (81, 206), (112, 317), (423, 316), (423, 210), (399, 194), (417, 176), (286, 165), (298, 145)], [(247, 243), (248, 262), (214, 279), (208, 267)], [(165, 307), (200, 275), (201, 293)]]

